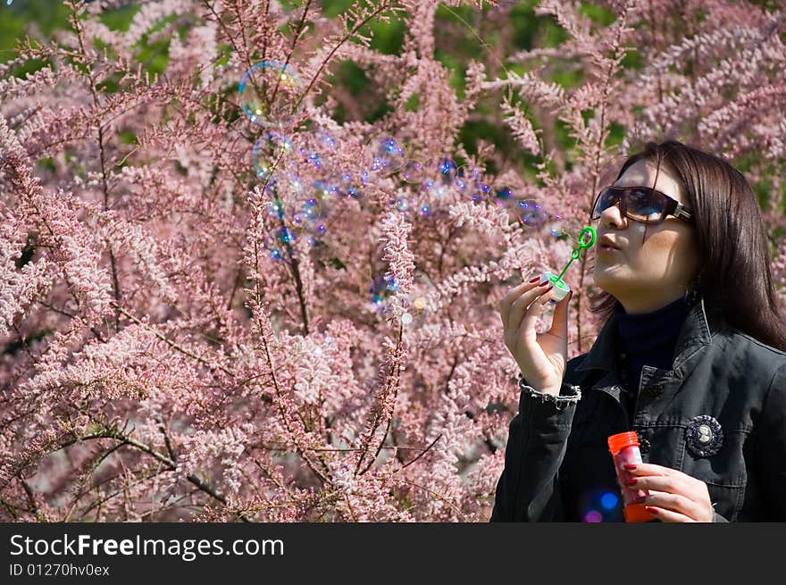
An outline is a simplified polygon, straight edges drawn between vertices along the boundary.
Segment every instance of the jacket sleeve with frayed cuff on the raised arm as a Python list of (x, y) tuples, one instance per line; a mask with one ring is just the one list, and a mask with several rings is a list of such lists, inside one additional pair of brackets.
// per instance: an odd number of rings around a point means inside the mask
[(581, 389), (563, 382), (552, 396), (523, 380), (519, 386), (519, 412), (509, 426), (489, 522), (564, 522), (558, 472)]

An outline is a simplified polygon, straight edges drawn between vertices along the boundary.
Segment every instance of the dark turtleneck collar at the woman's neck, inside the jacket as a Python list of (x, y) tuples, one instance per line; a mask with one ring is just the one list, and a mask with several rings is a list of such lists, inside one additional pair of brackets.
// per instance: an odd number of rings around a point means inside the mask
[(626, 386), (631, 394), (639, 389), (642, 366), (672, 369), (674, 348), (688, 309), (684, 297), (651, 313), (628, 314), (622, 304), (615, 305), (617, 331), (628, 364)]

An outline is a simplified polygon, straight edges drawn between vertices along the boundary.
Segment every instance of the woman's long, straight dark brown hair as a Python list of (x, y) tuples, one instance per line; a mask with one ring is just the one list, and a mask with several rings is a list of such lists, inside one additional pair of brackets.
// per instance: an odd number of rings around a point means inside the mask
[[(670, 171), (693, 210), (698, 244), (694, 290), (707, 311), (718, 311), (732, 327), (786, 351), (786, 323), (777, 305), (770, 270), (771, 251), (756, 194), (722, 157), (678, 140), (648, 142), (628, 157), (615, 180), (640, 160)], [(604, 322), (618, 301), (601, 291), (590, 311)]]

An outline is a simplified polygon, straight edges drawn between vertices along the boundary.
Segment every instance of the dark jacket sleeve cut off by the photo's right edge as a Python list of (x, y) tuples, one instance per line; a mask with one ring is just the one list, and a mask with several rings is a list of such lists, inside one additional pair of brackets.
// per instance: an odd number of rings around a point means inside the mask
[(773, 376), (755, 430), (755, 456), (766, 522), (786, 521), (786, 364)]

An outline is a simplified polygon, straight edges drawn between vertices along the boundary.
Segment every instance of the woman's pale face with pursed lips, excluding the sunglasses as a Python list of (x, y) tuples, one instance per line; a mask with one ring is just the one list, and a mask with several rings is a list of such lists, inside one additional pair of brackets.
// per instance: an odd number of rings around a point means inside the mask
[[(655, 187), (677, 201), (686, 201), (680, 183), (661, 164), (638, 161), (632, 164), (615, 187)], [(594, 277), (600, 288), (616, 297), (627, 313), (648, 313), (685, 294), (698, 271), (695, 228), (673, 215), (647, 226), (632, 221), (612, 205), (598, 220)], [(619, 249), (602, 246), (604, 236)]]

